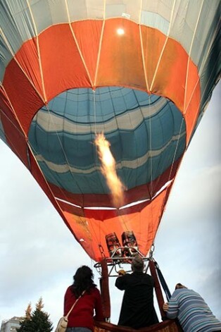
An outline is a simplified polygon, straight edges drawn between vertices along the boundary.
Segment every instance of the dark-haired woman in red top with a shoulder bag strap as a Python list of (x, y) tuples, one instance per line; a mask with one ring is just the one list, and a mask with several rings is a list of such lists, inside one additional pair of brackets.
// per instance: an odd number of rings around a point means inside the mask
[[(64, 315), (68, 314), (75, 303), (75, 307), (68, 316), (66, 332), (91, 332), (94, 331), (94, 319), (103, 321), (101, 294), (94, 284), (94, 275), (88, 266), (77, 269), (74, 283), (68, 287), (64, 300)], [(95, 310), (95, 315), (94, 315)]]

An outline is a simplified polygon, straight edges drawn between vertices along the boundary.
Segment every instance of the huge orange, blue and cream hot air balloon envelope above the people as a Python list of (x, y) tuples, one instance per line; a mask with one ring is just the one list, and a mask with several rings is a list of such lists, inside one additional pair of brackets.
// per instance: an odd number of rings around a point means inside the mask
[(0, 1), (1, 140), (98, 264), (150, 252), (220, 78), (219, 37), (219, 0)]

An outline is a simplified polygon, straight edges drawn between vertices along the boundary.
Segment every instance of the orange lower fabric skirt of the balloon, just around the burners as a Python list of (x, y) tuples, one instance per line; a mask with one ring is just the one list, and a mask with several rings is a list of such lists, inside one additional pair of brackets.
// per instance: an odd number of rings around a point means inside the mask
[(163, 207), (170, 187), (163, 190), (153, 202), (143, 202), (120, 210), (78, 209), (60, 202), (59, 205), (80, 245), (96, 262), (109, 257), (106, 235), (115, 233), (122, 245), (122, 233), (134, 232), (139, 251), (146, 256), (156, 236)]

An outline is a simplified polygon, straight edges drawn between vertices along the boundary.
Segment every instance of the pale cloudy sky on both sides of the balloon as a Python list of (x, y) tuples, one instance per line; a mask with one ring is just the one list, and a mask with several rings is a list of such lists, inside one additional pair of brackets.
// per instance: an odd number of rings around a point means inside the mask
[[(221, 84), (179, 168), (156, 236), (153, 257), (172, 292), (183, 283), (221, 320)], [(39, 297), (56, 327), (63, 295), (81, 265), (99, 274), (21, 161), (0, 140), (0, 324), (23, 316)], [(110, 278), (117, 324), (123, 293)]]

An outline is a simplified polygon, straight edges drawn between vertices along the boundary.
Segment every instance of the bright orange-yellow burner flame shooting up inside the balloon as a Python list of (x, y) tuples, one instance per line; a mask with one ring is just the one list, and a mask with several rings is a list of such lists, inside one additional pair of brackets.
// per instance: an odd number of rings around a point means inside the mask
[(95, 145), (98, 147), (99, 159), (101, 161), (101, 173), (106, 178), (106, 183), (113, 197), (115, 207), (124, 205), (125, 185), (122, 184), (116, 173), (116, 163), (110, 152), (110, 143), (102, 134), (96, 134)]

